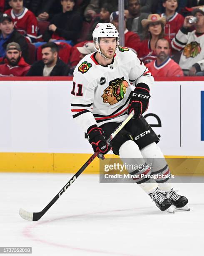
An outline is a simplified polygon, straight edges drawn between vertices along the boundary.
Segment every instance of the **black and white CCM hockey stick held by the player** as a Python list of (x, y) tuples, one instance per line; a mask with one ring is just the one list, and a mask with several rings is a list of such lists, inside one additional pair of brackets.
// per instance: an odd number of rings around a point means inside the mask
[[(107, 143), (110, 143), (112, 139), (119, 133), (119, 131), (129, 122), (129, 120), (133, 117), (133, 111), (128, 115), (128, 117), (114, 130), (114, 132), (107, 139)], [(70, 185), (75, 182), (75, 180), (80, 176), (80, 174), (87, 168), (87, 166), (95, 159), (95, 157), (100, 154), (100, 151), (96, 151), (90, 159), (86, 161), (86, 163), (79, 169), (79, 171), (67, 182), (67, 184), (60, 190), (60, 192), (49, 202), (47, 206), (41, 212), (27, 212), (20, 208), (19, 214), (25, 220), (37, 221), (50, 209), (50, 207), (59, 199), (59, 197), (67, 190)]]

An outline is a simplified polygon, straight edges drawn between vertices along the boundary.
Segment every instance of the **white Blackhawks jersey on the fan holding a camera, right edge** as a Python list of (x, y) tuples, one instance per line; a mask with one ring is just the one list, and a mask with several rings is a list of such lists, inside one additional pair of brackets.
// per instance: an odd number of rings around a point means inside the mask
[(190, 69), (198, 61), (199, 64), (204, 63), (204, 33), (181, 28), (172, 40), (172, 47), (177, 51), (183, 50), (179, 60), (182, 69)]

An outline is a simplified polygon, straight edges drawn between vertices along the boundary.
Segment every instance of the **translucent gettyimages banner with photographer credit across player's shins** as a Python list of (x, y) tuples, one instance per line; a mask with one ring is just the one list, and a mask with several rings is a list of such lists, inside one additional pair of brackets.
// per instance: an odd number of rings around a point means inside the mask
[[(200, 160), (104, 159), (100, 160), (100, 183), (204, 183), (204, 159)], [(201, 170), (198, 161), (202, 163)], [(199, 172), (203, 174), (198, 176)]]

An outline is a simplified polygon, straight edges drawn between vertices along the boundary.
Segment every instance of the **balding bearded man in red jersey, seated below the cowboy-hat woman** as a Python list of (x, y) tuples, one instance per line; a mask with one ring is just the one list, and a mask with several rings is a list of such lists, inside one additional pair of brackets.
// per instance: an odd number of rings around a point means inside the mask
[(153, 77), (183, 77), (184, 73), (175, 61), (170, 58), (170, 44), (165, 38), (156, 43), (157, 59), (149, 62), (146, 67)]

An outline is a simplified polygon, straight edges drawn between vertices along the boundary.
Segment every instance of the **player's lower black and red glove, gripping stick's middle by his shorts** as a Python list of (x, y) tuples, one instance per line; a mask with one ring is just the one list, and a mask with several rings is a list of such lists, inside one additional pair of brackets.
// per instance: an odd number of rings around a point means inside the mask
[(103, 136), (104, 131), (101, 128), (98, 128), (97, 125), (92, 125), (87, 130), (89, 143), (92, 145), (94, 152), (99, 148), (100, 153), (107, 154), (111, 149), (111, 146), (108, 146), (106, 140)]

